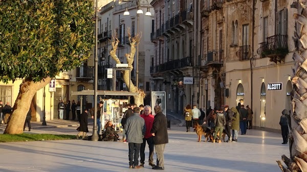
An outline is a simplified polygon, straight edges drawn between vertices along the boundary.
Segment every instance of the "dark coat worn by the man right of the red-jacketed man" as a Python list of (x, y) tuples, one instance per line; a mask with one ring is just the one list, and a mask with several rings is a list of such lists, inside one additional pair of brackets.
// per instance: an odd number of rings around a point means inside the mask
[(155, 115), (150, 133), (155, 133), (155, 136), (153, 136), (154, 144), (168, 143), (167, 119), (162, 112)]

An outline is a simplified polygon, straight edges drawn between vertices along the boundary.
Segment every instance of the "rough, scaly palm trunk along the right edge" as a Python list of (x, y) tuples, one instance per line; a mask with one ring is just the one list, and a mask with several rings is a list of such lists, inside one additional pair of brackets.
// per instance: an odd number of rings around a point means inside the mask
[(297, 9), (294, 13), (295, 33), (295, 61), (293, 83), (293, 100), (291, 116), (288, 117), (290, 127), (289, 148), (290, 158), (282, 156), (282, 161), (287, 165), (283, 167), (277, 162), (281, 171), (307, 171), (307, 9), (305, 2), (293, 2), (292, 8)]

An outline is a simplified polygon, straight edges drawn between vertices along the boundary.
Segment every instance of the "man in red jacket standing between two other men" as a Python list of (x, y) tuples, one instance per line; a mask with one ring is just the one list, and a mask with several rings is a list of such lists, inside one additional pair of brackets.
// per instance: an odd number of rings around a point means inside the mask
[(143, 143), (141, 144), (141, 151), (140, 151), (140, 155), (141, 155), (141, 166), (144, 167), (145, 164), (145, 147), (146, 147), (146, 141), (148, 144), (148, 148), (149, 148), (149, 159), (148, 159), (148, 163), (151, 167), (155, 167), (156, 164), (153, 163), (153, 150), (155, 148), (155, 145), (153, 144), (153, 136), (150, 133), (150, 130), (152, 128), (152, 124), (153, 124), (153, 119), (155, 119), (155, 117), (153, 115), (151, 115), (151, 107), (149, 105), (146, 105), (144, 107), (144, 113), (140, 115), (142, 118), (144, 118), (145, 120), (145, 126), (146, 126), (146, 133), (145, 136), (143, 138)]

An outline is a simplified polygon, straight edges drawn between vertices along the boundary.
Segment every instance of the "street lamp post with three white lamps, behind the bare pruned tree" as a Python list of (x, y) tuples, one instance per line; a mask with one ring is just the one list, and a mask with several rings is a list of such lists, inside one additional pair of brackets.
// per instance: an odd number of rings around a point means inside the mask
[[(140, 0), (137, 1), (137, 34), (139, 34), (139, 19), (140, 14), (143, 14)], [(147, 0), (146, 0), (147, 1)], [(126, 10), (124, 12), (124, 15), (129, 15), (128, 8), (126, 7)], [(145, 13), (146, 16), (151, 16), (150, 10), (149, 10), (149, 2), (147, 1), (147, 12)], [(139, 89), (139, 42), (137, 42), (137, 71), (136, 71), (136, 87)]]

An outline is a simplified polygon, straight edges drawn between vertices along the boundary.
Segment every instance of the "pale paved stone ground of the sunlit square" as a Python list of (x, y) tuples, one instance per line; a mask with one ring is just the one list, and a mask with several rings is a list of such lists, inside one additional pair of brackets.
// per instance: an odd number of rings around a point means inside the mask
[[(90, 121), (90, 130), (92, 124)], [(26, 132), (77, 134), (77, 121), (54, 120), (47, 121), (47, 125), (32, 122), (33, 130)], [(278, 133), (248, 130), (247, 135), (239, 135), (238, 142), (211, 143), (197, 142), (195, 133), (186, 133), (185, 127), (177, 126), (172, 125), (168, 130), (164, 171), (280, 171), (276, 160), (280, 160), (282, 154), (289, 156), (288, 145), (281, 144)], [(4, 127), (2, 125), (0, 130)], [(128, 169), (128, 144), (123, 142), (0, 143), (0, 171), (153, 171), (148, 166), (147, 147), (145, 154), (144, 168)]]

